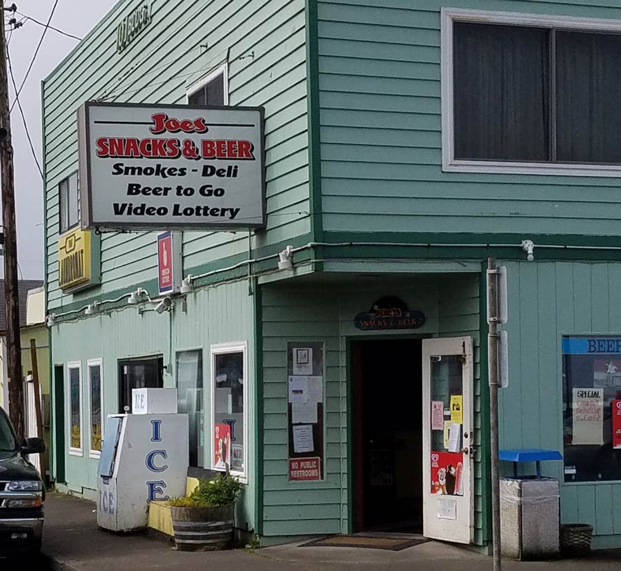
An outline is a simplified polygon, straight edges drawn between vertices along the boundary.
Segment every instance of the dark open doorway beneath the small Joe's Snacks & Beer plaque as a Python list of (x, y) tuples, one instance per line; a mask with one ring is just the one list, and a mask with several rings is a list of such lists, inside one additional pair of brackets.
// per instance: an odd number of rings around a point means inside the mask
[(357, 341), (355, 531), (422, 532), (422, 341)]

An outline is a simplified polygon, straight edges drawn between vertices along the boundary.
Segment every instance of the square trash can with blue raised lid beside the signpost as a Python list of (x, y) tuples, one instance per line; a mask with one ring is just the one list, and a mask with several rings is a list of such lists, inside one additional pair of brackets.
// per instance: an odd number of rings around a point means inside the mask
[[(540, 462), (562, 460), (556, 450), (501, 450), (513, 462), (513, 477), (500, 478), (500, 543), (504, 557), (536, 560), (558, 557), (560, 489), (556, 478), (541, 476)], [(537, 473), (517, 476), (517, 463), (535, 462)]]

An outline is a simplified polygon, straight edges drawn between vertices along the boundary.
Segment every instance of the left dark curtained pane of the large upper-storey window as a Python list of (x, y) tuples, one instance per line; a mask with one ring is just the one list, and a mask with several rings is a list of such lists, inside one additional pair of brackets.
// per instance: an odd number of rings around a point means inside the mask
[(549, 30), (453, 29), (455, 158), (549, 160)]

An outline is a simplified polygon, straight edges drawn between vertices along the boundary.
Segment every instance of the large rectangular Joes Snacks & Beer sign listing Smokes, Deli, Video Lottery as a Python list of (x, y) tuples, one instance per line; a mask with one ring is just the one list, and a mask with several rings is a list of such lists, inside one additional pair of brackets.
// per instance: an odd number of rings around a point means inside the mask
[(262, 108), (84, 104), (82, 228), (264, 227), (263, 122)]

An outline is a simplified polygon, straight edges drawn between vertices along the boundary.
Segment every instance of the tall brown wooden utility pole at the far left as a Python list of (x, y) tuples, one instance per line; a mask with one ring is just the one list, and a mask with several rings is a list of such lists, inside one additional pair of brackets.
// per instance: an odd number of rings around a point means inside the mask
[[(3, 8), (4, 14), (4, 8)], [(23, 442), (23, 380), (21, 378), (21, 342), (19, 338), (19, 298), (17, 295), (17, 232), (15, 230), (15, 184), (11, 117), (6, 68), (4, 19), (0, 22), (0, 177), (2, 184), (2, 224), (4, 226), (4, 306), (6, 311), (6, 350), (9, 414)], [(0, 309), (1, 311), (1, 309)]]

